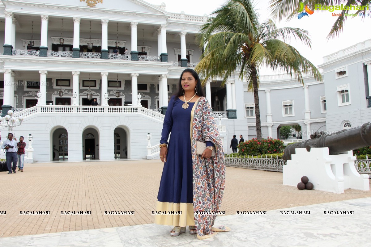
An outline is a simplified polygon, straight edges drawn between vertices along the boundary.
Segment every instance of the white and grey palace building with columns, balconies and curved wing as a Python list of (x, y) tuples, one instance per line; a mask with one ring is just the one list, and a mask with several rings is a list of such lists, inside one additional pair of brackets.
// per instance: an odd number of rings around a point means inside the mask
[[(3, 117), (10, 109), (23, 117), (13, 132), (25, 137), (26, 148), (32, 134), (29, 162), (158, 157), (162, 113), (181, 72), (200, 61), (195, 36), (208, 18), (169, 13), (165, 6), (0, 1), (0, 106)], [(263, 137), (278, 138), (284, 125), (300, 125), (307, 139), (313, 131), (371, 121), (371, 40), (324, 57), (319, 67), (324, 80), (305, 77), (304, 87), (286, 74), (260, 76)], [(209, 81), (205, 90), (226, 153), (233, 134), (256, 137), (245, 82), (237, 76), (223, 86)], [(91, 106), (94, 99), (98, 106)], [(0, 130), (6, 138), (8, 128)]]

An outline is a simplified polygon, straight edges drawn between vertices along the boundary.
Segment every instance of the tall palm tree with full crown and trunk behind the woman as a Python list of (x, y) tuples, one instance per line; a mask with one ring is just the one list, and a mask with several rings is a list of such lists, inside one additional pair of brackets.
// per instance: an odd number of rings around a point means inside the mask
[(225, 83), (236, 73), (241, 80), (247, 78), (248, 89), (254, 93), (256, 136), (261, 139), (259, 66), (283, 70), (299, 83), (303, 83), (302, 73), (312, 73), (322, 80), (317, 68), (286, 43), (293, 37), (311, 47), (308, 32), (291, 27), (278, 29), (270, 19), (260, 24), (250, 0), (230, 0), (213, 14), (197, 37), (201, 48), (205, 43), (207, 46), (195, 70), (204, 83), (209, 78), (221, 78)]

